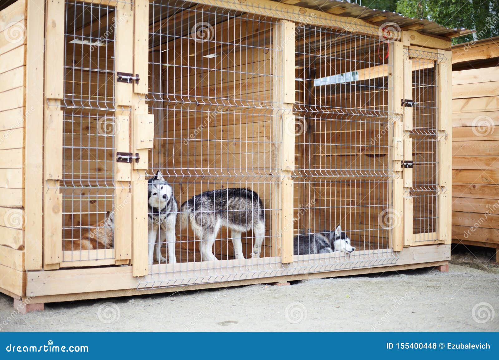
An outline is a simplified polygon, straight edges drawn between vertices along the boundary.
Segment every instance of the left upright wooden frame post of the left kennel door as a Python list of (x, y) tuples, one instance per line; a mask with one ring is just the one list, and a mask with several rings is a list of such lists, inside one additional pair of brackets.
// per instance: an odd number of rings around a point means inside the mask
[[(45, 33), (45, 121), (43, 191), (43, 268), (62, 259), (62, 136), (64, 96), (64, 0), (48, 0)], [(28, 64), (29, 67), (29, 64)]]

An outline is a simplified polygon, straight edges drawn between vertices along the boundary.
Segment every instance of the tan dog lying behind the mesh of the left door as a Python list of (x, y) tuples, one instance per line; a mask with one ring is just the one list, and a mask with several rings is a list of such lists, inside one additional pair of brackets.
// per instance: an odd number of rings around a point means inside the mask
[(113, 247), (114, 213), (108, 211), (106, 217), (99, 224), (85, 232), (80, 240), (64, 240), (63, 250), (96, 250)]

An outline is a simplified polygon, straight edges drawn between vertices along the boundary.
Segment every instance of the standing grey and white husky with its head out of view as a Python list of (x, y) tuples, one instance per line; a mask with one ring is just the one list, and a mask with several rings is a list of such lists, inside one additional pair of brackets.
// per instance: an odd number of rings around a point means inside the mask
[(251, 229), (255, 237), (251, 257), (260, 257), (265, 215), (258, 194), (250, 189), (230, 188), (195, 195), (180, 207), (180, 222), (182, 229), (191, 224), (199, 240), (201, 261), (218, 260), (213, 244), (222, 226), (231, 230), (236, 259), (244, 258), (241, 233)]

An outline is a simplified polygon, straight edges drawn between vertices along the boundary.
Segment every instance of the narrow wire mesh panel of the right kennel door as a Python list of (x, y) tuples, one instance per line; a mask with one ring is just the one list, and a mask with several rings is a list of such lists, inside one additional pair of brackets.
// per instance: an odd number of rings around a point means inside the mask
[[(413, 185), (406, 196), (413, 198), (413, 242), (437, 240), (437, 199), (441, 190), (437, 183), (438, 96), (436, 71), (439, 56), (435, 53), (405, 51), (412, 61), (413, 129)], [(440, 60), (444, 60), (441, 55)]]

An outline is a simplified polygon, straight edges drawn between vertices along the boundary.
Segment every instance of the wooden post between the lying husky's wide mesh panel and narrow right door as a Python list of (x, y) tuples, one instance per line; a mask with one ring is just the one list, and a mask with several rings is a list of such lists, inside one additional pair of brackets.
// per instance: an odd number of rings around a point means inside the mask
[(391, 160), (393, 171), (397, 177), (389, 184), (389, 196), (391, 197), (392, 210), (396, 219), (392, 229), (392, 248), (394, 251), (400, 251), (403, 248), (404, 236), (404, 203), (403, 203), (403, 181), (402, 181), (402, 160), (404, 159), (403, 146), (403, 124), (402, 124), (402, 91), (404, 75), (404, 47), (397, 41), (390, 43), (391, 51), (388, 63), (392, 65), (391, 72), (388, 74), (389, 88), (392, 89), (388, 97), (389, 112), (393, 113), (393, 133), (389, 138), (392, 145)]

